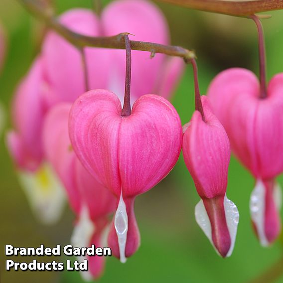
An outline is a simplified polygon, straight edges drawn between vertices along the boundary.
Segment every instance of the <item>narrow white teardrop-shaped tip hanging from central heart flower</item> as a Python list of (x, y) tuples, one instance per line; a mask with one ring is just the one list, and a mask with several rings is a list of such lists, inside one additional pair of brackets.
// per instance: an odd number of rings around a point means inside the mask
[(114, 226), (118, 237), (120, 262), (126, 263), (127, 258), (125, 256), (125, 250), (126, 250), (127, 233), (128, 233), (128, 215), (126, 210), (126, 204), (122, 196), (122, 190), (121, 190), (118, 208), (115, 213)]

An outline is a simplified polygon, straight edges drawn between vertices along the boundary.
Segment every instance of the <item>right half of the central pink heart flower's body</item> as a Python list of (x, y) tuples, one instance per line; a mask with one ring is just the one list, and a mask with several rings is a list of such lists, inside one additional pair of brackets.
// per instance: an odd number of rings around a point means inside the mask
[(177, 162), (181, 145), (181, 122), (174, 107), (156, 95), (138, 99), (119, 132), (123, 197), (144, 193), (160, 182)]

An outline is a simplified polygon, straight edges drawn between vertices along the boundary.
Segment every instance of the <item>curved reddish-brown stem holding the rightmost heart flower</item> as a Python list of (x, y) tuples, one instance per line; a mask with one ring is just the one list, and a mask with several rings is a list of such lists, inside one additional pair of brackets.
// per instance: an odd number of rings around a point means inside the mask
[(258, 29), (259, 36), (259, 62), (260, 62), (260, 83), (261, 93), (260, 98), (267, 97), (267, 85), (266, 85), (266, 51), (265, 51), (265, 37), (262, 22), (256, 15), (251, 15), (250, 18), (254, 20)]

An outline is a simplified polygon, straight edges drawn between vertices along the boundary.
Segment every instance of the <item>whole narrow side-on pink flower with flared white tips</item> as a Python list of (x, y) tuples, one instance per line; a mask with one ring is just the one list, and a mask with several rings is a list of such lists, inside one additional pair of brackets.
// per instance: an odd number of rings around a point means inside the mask
[(195, 209), (196, 221), (222, 257), (231, 256), (237, 234), (239, 212), (227, 198), (230, 143), (211, 112), (208, 98), (201, 97), (205, 121), (199, 111), (185, 125), (183, 155), (201, 201)]

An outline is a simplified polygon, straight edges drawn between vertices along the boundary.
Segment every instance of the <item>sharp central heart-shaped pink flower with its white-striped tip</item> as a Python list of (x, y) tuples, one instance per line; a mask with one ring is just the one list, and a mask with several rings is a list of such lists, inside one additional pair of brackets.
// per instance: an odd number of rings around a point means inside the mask
[(119, 199), (108, 244), (125, 262), (140, 245), (135, 198), (173, 168), (182, 129), (173, 106), (156, 95), (141, 96), (130, 116), (122, 117), (121, 111), (114, 93), (89, 91), (72, 106), (69, 133), (82, 164)]

